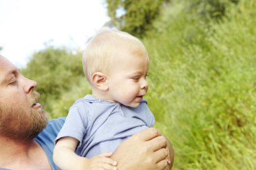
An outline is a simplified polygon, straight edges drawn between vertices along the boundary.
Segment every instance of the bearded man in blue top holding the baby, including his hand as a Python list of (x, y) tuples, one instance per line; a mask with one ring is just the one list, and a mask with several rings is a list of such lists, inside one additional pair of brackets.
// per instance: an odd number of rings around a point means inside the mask
[[(65, 118), (47, 122), (35, 87), (35, 81), (0, 55), (0, 169), (59, 169), (52, 155)], [(166, 145), (170, 163), (165, 159)], [(168, 140), (150, 128), (125, 140), (112, 158), (121, 170), (170, 169), (173, 151)]]

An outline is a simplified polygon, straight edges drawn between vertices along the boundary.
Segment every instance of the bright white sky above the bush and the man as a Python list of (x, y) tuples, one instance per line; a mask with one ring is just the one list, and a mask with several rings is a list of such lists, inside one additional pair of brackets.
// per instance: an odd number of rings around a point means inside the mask
[(83, 50), (109, 20), (104, 0), (0, 0), (1, 55), (22, 68), (46, 46)]

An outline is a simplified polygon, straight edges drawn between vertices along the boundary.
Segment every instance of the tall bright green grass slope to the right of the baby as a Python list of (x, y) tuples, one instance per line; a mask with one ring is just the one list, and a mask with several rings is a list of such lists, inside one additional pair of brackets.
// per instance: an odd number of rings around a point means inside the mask
[(174, 146), (174, 169), (256, 169), (256, 2), (230, 5), (222, 22), (185, 7), (172, 4), (143, 40), (146, 98)]

